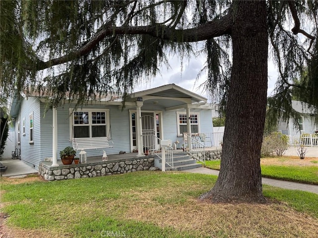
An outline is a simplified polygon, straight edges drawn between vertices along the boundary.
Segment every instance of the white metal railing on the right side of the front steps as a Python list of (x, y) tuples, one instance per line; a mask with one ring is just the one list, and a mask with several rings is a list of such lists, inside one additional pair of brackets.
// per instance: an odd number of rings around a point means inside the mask
[(199, 137), (199, 133), (183, 133), (183, 140), (186, 143), (185, 151), (191, 158), (201, 161), (205, 166), (205, 143)]

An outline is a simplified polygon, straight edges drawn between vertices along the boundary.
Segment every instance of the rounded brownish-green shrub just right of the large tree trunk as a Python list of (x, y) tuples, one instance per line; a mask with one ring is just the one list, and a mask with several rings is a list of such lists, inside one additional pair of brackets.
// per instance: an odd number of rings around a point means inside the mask
[(288, 136), (281, 132), (272, 132), (263, 137), (261, 156), (282, 156), (288, 149)]

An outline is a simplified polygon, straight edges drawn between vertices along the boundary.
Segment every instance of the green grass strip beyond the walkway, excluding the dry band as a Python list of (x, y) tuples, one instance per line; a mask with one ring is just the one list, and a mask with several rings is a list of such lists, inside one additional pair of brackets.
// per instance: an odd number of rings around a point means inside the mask
[[(286, 161), (286, 159), (282, 159)], [(220, 170), (220, 160), (206, 161), (206, 167)], [(261, 165), (262, 177), (287, 181), (303, 182), (318, 185), (317, 166), (278, 166)]]

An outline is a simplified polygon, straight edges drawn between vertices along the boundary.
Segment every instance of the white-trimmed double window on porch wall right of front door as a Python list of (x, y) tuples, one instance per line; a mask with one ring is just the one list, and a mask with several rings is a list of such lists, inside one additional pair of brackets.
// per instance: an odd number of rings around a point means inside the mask
[[(190, 114), (191, 132), (199, 132), (199, 113)], [(182, 136), (183, 132), (187, 132), (187, 115), (184, 112), (177, 112), (177, 131), (178, 136)]]

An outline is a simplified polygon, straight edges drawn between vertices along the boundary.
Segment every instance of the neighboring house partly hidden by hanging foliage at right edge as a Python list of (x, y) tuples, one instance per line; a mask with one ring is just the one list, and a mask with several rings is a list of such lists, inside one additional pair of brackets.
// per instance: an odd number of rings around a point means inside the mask
[(278, 122), (279, 131), (285, 135), (296, 137), (299, 137), (301, 134), (314, 134), (318, 131), (317, 114), (314, 113), (314, 110), (308, 104), (293, 100), (292, 107), (296, 112), (301, 114), (301, 119), (298, 121), (300, 128), (296, 127), (293, 118), (290, 118), (286, 122)]

